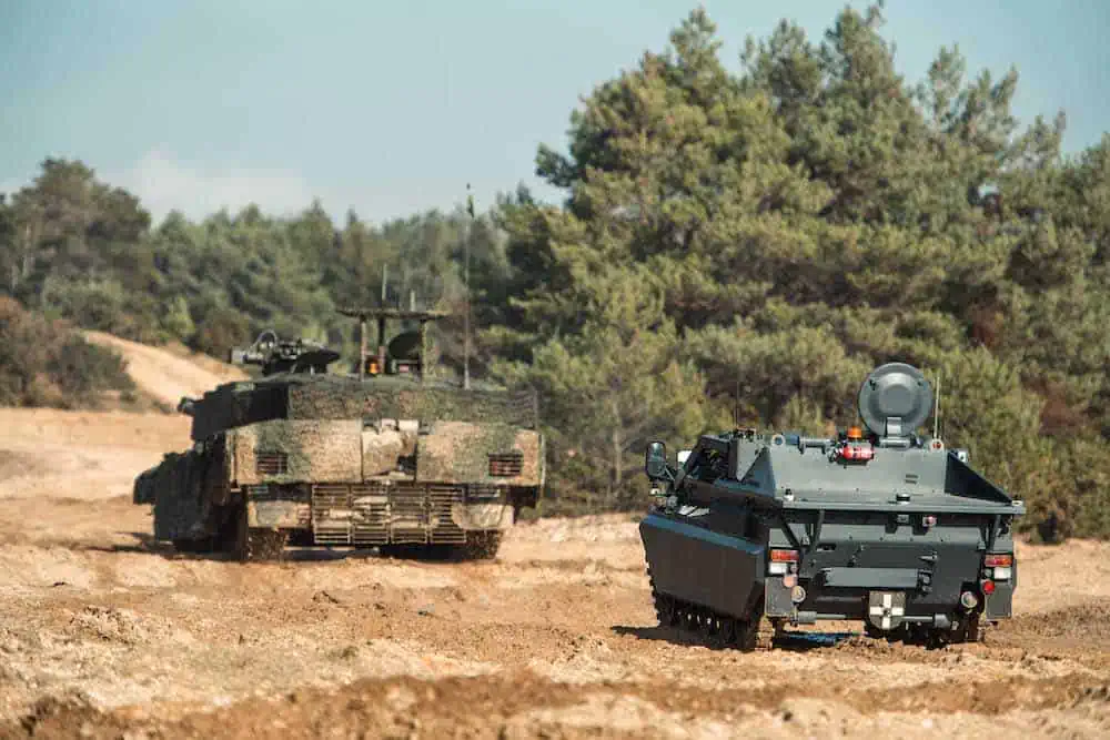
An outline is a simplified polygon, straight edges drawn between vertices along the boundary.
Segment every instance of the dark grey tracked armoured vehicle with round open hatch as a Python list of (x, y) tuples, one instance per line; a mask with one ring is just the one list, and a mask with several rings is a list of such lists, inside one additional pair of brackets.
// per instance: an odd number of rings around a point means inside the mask
[(750, 650), (765, 619), (776, 636), (862, 621), (940, 646), (1009, 618), (1025, 506), (917, 433), (932, 402), (919, 369), (889, 363), (859, 389), (864, 428), (705, 435), (677, 465), (649, 444), (639, 533), (659, 624)]

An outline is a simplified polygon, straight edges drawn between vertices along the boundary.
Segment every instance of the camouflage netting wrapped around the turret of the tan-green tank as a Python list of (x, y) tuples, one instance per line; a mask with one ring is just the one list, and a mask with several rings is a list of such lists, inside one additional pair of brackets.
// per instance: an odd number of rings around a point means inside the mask
[(193, 413), (193, 439), (271, 419), (414, 418), (502, 422), (536, 428), (529, 392), (463, 391), (414, 378), (290, 375), (232, 383), (204, 394)]

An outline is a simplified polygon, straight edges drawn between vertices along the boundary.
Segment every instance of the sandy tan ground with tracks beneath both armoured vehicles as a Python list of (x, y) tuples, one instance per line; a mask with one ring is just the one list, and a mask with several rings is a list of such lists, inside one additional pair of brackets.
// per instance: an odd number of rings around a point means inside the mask
[(0, 738), (1110, 737), (1106, 544), (1022, 546), (982, 645), (740, 653), (656, 626), (630, 517), (521, 525), (482, 564), (174, 554), (130, 487), (186, 439), (0, 409)]

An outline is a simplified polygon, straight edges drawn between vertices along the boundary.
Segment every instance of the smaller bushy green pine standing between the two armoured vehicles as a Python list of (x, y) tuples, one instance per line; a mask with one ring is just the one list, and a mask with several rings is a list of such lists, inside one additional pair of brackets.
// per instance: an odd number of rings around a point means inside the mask
[(619, 508), (640, 503), (629, 478), (647, 442), (688, 440), (710, 409), (697, 369), (676, 358), (679, 338), (647, 271), (613, 268), (583, 283), (578, 297), (591, 317), (579, 333), (535, 347), (529, 364), (494, 371), (544, 398), (556, 495), (566, 500), (585, 489)]

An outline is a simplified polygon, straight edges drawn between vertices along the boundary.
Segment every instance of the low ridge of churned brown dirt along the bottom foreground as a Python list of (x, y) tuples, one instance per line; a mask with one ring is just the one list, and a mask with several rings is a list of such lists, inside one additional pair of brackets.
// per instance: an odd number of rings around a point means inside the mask
[[(304, 689), (231, 707), (186, 711), (174, 719), (135, 709), (104, 712), (80, 695), (37, 703), (8, 726), (11, 737), (115, 738), (793, 738), (793, 737), (971, 737), (990, 738), (1015, 720), (1030, 727), (1066, 729), (1068, 737), (1099, 737), (1110, 729), (1104, 685), (1053, 688), (951, 686), (930, 689), (924, 708), (899, 706), (896, 696), (854, 706), (799, 696), (779, 686), (737, 696), (695, 693), (634, 683), (571, 686), (528, 671), (458, 677), (359, 681), (339, 690)], [(920, 703), (920, 702), (919, 702)], [(1010, 714), (1000, 712), (1009, 708)], [(140, 734), (142, 733), (142, 734)]]

